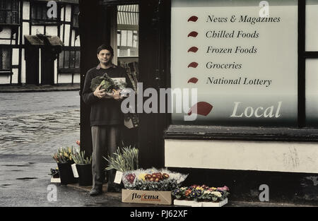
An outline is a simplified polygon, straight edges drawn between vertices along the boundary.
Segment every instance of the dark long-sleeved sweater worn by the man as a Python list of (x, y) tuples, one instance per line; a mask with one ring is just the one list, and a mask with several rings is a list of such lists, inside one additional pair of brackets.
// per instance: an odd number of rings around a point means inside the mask
[(114, 66), (105, 69), (101, 68), (100, 65), (91, 68), (86, 73), (82, 93), (83, 101), (90, 105), (90, 126), (124, 124), (124, 114), (120, 108), (122, 100), (114, 100), (113, 98), (100, 99), (95, 97), (93, 91), (90, 89), (92, 79), (102, 76), (104, 73), (107, 73), (110, 78), (126, 78), (126, 88), (131, 88), (131, 82), (124, 68)]

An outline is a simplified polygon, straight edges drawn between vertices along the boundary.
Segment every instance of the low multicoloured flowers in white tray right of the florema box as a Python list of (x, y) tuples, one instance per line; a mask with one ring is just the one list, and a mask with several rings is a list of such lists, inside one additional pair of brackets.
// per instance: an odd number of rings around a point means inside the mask
[(172, 196), (178, 200), (218, 202), (228, 198), (229, 191), (228, 186), (216, 188), (206, 185), (192, 185), (175, 189), (172, 191)]

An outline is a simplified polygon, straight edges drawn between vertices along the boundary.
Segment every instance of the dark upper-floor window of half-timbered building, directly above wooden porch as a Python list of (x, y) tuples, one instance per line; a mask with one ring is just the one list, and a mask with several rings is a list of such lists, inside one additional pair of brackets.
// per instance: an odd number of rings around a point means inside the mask
[(49, 18), (47, 16), (47, 2), (31, 2), (31, 20), (33, 25), (45, 25), (45, 24), (56, 24), (60, 20), (59, 16), (59, 4), (57, 5), (58, 14), (57, 18)]

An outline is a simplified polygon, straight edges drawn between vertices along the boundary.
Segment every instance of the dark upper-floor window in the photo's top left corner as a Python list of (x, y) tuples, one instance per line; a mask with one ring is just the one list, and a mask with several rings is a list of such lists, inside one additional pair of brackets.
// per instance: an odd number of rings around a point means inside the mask
[(18, 0), (0, 0), (0, 24), (19, 24), (18, 5)]

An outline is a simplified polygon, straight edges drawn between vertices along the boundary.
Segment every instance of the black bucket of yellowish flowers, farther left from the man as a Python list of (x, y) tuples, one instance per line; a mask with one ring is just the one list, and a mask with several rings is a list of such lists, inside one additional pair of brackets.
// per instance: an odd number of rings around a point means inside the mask
[(73, 175), (73, 170), (71, 165), (74, 163), (73, 155), (76, 152), (71, 148), (59, 148), (57, 153), (52, 156), (57, 162), (57, 167), (59, 167), (59, 177), (61, 179), (61, 184), (73, 184), (76, 183), (76, 178)]

